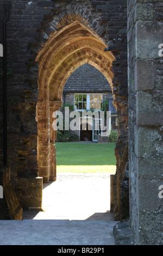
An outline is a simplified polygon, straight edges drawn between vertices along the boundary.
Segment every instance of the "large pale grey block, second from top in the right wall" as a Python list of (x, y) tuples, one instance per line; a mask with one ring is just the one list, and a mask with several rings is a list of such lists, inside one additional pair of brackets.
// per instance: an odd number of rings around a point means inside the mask
[(136, 22), (136, 57), (142, 59), (159, 58), (162, 44), (162, 23), (157, 21)]

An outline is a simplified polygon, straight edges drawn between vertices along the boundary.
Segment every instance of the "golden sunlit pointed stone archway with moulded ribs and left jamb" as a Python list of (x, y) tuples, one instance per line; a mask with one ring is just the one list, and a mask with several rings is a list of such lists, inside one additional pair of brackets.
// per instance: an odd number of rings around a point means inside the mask
[[(52, 115), (62, 105), (62, 90), (67, 78), (80, 65), (89, 63), (106, 77), (112, 88), (111, 52), (91, 29), (78, 20), (54, 32), (39, 52), (39, 101), (37, 102), (39, 175), (44, 182), (56, 179), (55, 139)], [(113, 88), (112, 88), (113, 92)]]

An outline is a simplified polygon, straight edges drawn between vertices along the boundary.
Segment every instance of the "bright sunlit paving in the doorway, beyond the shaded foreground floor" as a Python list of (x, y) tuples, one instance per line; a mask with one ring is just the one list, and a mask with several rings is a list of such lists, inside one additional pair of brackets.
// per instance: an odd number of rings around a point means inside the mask
[(24, 211), (23, 219), (114, 221), (110, 210), (110, 176), (59, 173), (43, 184), (45, 212)]

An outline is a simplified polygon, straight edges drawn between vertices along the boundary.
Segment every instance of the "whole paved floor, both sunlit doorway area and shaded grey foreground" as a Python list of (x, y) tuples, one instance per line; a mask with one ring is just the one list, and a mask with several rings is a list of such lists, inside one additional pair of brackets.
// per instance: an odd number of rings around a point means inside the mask
[(60, 173), (43, 185), (45, 211), (0, 221), (0, 245), (115, 245), (109, 175)]

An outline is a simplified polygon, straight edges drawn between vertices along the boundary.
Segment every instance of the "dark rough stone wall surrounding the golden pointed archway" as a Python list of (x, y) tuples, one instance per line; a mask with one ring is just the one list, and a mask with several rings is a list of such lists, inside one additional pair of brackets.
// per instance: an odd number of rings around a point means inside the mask
[[(108, 51), (112, 51), (116, 58), (112, 71), (119, 123), (115, 150), (118, 172), (123, 149), (128, 139), (126, 1), (12, 0), (11, 3), (10, 17), (7, 22), (7, 63), (13, 72), (12, 77), (7, 81), (8, 165), (11, 167), (11, 181), (17, 196), (21, 194), (20, 200), (23, 202), (22, 179), (27, 179), (25, 183), (28, 183), (31, 178), (41, 175), (38, 173), (36, 120), (39, 63), (35, 62), (35, 58), (51, 34), (59, 32), (74, 20), (82, 22), (84, 26), (90, 27), (95, 35), (100, 36), (108, 45)], [(5, 16), (3, 8), (1, 13), (2, 25)], [(2, 32), (2, 26), (0, 29)], [(97, 62), (101, 61), (101, 56), (93, 52), (90, 54), (97, 59)], [(38, 105), (39, 115), (42, 113), (40, 106)], [(39, 120), (39, 129), (44, 129), (43, 126), (45, 126), (45, 120)], [(41, 136), (45, 140), (48, 137), (44, 134)], [(3, 136), (1, 141), (2, 138)], [(1, 152), (3, 152), (2, 148)], [(3, 154), (0, 160), (3, 161)], [(30, 191), (29, 194), (31, 193)], [(24, 196), (24, 205), (27, 206), (25, 198)]]

